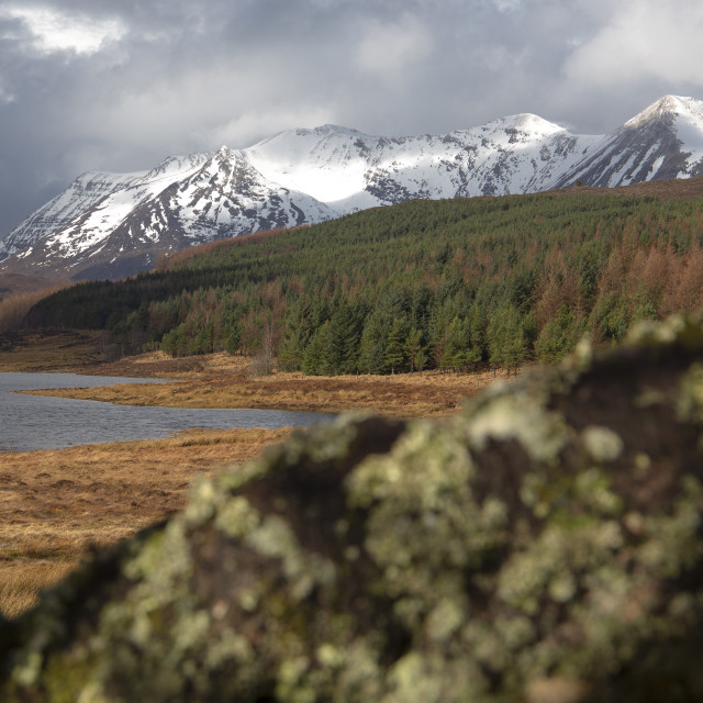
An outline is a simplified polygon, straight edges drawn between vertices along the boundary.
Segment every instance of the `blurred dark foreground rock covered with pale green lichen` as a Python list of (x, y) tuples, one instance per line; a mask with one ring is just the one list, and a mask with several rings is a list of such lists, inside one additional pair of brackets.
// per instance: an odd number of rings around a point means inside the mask
[(703, 328), (342, 419), (0, 624), (0, 700), (703, 700)]

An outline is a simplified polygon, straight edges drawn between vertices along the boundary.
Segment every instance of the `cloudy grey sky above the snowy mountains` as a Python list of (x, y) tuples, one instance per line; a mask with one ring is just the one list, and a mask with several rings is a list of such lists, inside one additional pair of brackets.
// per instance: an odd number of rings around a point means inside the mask
[(0, 236), (86, 170), (289, 127), (609, 132), (703, 99), (701, 0), (0, 0)]

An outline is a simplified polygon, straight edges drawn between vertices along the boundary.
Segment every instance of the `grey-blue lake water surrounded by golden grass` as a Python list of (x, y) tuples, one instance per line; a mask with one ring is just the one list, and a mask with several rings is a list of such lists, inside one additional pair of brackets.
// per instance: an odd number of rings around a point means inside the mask
[(0, 451), (58, 449), (78, 444), (167, 437), (203, 427), (287, 427), (331, 422), (334, 415), (278, 410), (200, 410), (111, 405), (91, 400), (23, 395), (18, 390), (89, 388), (115, 383), (161, 383), (158, 379), (0, 373)]

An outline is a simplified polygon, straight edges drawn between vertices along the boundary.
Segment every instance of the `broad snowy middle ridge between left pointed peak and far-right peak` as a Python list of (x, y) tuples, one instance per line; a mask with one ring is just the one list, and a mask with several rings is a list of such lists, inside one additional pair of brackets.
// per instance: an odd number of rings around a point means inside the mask
[(448, 135), (380, 137), (334, 125), (291, 130), (244, 154), (267, 179), (344, 213), (411, 198), (539, 190), (579, 160), (593, 138), (518, 114)]

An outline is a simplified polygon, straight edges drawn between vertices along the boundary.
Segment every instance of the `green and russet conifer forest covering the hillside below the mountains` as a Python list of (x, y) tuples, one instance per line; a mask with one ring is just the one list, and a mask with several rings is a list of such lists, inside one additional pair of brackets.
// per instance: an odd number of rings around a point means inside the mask
[(513, 368), (703, 305), (703, 198), (413, 201), (181, 252), (32, 309), (124, 352), (278, 355), (313, 375)]

